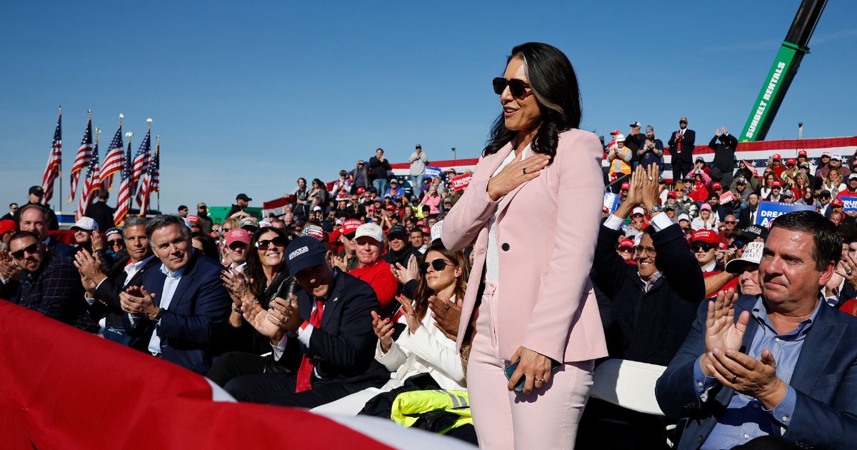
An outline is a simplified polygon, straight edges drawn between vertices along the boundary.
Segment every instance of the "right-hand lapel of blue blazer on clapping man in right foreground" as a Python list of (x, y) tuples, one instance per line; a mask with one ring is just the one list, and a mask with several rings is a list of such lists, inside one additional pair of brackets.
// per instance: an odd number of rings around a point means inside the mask
[(833, 321), (836, 314), (839, 314), (836, 309), (822, 304), (818, 308), (818, 315), (815, 316), (815, 323), (812, 324), (809, 333), (806, 333), (804, 343), (800, 347), (798, 362), (794, 364), (792, 379), (788, 382), (800, 392), (812, 392), (812, 386), (827, 367), (827, 361), (830, 361), (833, 351), (840, 348), (839, 343), (845, 327)]

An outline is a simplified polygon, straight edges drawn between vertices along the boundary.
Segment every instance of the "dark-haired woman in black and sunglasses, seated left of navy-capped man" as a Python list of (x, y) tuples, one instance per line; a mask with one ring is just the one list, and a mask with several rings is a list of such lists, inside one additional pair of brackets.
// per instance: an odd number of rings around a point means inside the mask
[(221, 274), (233, 302), (230, 327), (224, 333), (223, 343), (232, 351), (217, 358), (207, 375), (220, 386), (239, 375), (297, 370), (300, 359), (297, 353), (292, 353), (297, 349), (286, 347), (286, 353), (278, 361), (271, 356), (260, 356), (271, 351), (269, 340), (250, 327), (241, 314), (242, 302), (255, 299), (267, 309), (274, 298), (288, 297), (286, 291), (294, 289), (294, 277), (289, 275), (285, 265), (288, 243), (285, 231), (273, 226), (260, 228), (250, 237), (244, 272), (233, 270)]

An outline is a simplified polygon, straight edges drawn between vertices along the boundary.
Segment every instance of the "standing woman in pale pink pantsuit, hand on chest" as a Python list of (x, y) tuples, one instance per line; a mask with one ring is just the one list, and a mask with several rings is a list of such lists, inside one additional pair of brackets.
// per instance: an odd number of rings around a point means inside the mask
[[(577, 76), (553, 46), (512, 49), (494, 92), (502, 116), (442, 231), (447, 249), (474, 244), (457, 345), (472, 336), (476, 434), (492, 450), (572, 448), (593, 362), (607, 356), (589, 279), (602, 146), (577, 129)], [(518, 360), (507, 381), (504, 369)], [(524, 392), (516, 393), (521, 376)]]

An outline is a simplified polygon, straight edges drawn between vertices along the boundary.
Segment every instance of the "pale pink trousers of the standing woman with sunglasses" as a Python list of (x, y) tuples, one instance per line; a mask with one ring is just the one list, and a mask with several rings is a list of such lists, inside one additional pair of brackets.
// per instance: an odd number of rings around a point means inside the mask
[(476, 312), (467, 363), (467, 392), (479, 447), (574, 448), (578, 422), (592, 386), (594, 361), (564, 363), (548, 384), (529, 395), (510, 392), (499, 356), (496, 285), (488, 283)]

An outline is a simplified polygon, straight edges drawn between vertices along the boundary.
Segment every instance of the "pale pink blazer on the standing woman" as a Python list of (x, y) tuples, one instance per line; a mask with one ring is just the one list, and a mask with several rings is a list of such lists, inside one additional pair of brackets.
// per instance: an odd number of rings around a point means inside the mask
[(458, 349), (482, 280), (488, 220), (502, 204), (496, 226), (500, 357), (510, 359), (520, 345), (564, 363), (605, 357), (589, 278), (604, 196), (601, 143), (588, 131), (561, 133), (554, 163), (512, 190), (505, 201), (493, 202), (488, 178), (510, 152), (511, 143), (479, 159), (470, 185), (443, 220), (441, 238), (447, 249), (475, 243)]

